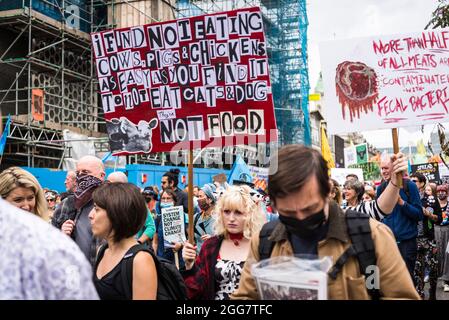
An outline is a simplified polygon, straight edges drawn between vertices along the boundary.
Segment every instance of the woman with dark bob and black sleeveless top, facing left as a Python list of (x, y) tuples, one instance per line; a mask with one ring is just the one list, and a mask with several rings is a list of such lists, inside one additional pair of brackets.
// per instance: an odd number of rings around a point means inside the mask
[[(149, 248), (139, 244), (136, 233), (147, 216), (145, 199), (139, 188), (129, 183), (109, 183), (93, 193), (89, 213), (92, 233), (107, 244), (98, 250), (94, 284), (102, 300), (154, 300), (158, 274)], [(132, 272), (128, 275), (127, 261)], [(124, 280), (124, 278), (130, 278)]]

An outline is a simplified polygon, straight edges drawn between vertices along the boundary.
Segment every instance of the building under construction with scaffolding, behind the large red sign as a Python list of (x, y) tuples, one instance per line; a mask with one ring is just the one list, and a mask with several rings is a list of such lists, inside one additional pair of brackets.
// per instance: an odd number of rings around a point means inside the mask
[(108, 151), (91, 32), (250, 6), (264, 16), (279, 142), (310, 144), (305, 0), (0, 0), (0, 110), (13, 120), (1, 167), (62, 169), (73, 157), (69, 141)]

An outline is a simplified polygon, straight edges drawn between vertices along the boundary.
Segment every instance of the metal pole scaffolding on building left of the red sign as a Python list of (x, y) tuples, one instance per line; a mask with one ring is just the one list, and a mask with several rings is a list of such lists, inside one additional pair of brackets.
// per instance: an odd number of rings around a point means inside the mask
[[(108, 151), (89, 33), (173, 19), (174, 13), (174, 0), (0, 2), (0, 115), (13, 120), (1, 167), (62, 168), (71, 157), (65, 129), (95, 138), (97, 152)], [(44, 95), (43, 121), (32, 115), (36, 89)], [(161, 162), (159, 155), (127, 160)]]

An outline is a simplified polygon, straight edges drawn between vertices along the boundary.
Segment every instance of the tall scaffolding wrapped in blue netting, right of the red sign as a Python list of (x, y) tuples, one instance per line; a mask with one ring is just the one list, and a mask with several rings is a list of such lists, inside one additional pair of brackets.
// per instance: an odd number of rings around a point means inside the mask
[(264, 18), (279, 144), (310, 145), (305, 0), (180, 0), (178, 16), (253, 6), (261, 8)]

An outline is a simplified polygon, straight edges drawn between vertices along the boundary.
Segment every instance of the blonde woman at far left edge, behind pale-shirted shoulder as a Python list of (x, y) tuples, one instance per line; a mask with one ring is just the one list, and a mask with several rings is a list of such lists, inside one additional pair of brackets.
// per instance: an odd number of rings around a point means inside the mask
[(11, 167), (0, 173), (0, 196), (18, 208), (48, 220), (44, 191), (28, 171)]

